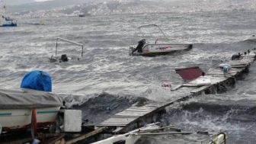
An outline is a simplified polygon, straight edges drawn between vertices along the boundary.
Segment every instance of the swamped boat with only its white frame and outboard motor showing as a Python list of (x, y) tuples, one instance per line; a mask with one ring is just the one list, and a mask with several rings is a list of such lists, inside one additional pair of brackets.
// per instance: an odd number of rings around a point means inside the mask
[(66, 40), (66, 39), (63, 39), (61, 37), (58, 37), (57, 40), (56, 40), (55, 56), (52, 55), (50, 57), (50, 59), (49, 59), (50, 62), (68, 62), (70, 59), (74, 59), (74, 58), (68, 57), (66, 54), (62, 54), (60, 57), (58, 56), (58, 54), (57, 54), (57, 52), (58, 52), (58, 40), (63, 40), (63, 41), (66, 41), (68, 43), (72, 43), (72, 44), (75, 44), (75, 45), (78, 45), (78, 46), (82, 46), (80, 56), (76, 57), (75, 59), (80, 60), (82, 58), (83, 50), (84, 50), (84, 45), (82, 43), (76, 43), (75, 41)]

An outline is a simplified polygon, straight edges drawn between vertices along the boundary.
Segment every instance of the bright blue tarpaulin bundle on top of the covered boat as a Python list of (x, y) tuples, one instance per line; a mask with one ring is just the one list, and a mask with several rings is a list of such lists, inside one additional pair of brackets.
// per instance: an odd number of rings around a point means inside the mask
[(30, 88), (38, 91), (52, 91), (52, 78), (46, 72), (34, 70), (27, 72), (21, 82), (21, 88)]

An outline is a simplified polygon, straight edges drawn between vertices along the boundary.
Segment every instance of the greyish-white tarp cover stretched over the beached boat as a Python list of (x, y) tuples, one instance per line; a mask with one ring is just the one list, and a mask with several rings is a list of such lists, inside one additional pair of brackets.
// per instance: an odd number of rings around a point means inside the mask
[(27, 88), (0, 89), (0, 109), (61, 107), (62, 99), (53, 93)]

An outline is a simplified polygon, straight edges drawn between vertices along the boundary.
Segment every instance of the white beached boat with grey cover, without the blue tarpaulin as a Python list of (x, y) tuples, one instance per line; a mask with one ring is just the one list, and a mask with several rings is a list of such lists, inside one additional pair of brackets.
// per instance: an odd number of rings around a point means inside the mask
[(32, 118), (37, 128), (50, 126), (61, 106), (61, 98), (50, 92), (0, 89), (0, 126), (2, 131), (27, 129)]

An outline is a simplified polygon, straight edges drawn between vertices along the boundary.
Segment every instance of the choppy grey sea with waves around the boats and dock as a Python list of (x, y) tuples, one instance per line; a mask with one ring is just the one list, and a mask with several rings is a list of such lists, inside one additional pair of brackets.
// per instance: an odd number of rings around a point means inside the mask
[[(46, 25), (41, 25), (41, 23)], [(193, 43), (193, 49), (167, 56), (130, 56), (129, 46), (146, 39), (166, 41), (153, 27), (157, 24), (171, 43)], [(149, 28), (149, 29), (148, 29)], [(225, 63), (236, 53), (256, 47), (255, 11), (194, 12), (170, 14), (109, 15), (85, 18), (21, 18), (18, 27), (0, 27), (0, 87), (20, 88), (27, 72), (51, 75), (53, 92), (66, 106), (82, 110), (85, 124), (98, 124), (136, 104), (171, 101), (186, 94), (170, 91), (184, 83), (175, 69), (199, 66), (204, 72)], [(69, 62), (49, 62), (56, 55)], [(221, 94), (202, 94), (166, 107), (155, 121), (184, 131), (228, 133), (228, 143), (256, 143), (256, 64), (250, 72)], [(203, 143), (194, 136), (142, 136), (141, 144)], [(85, 142), (84, 142), (85, 143)]]

